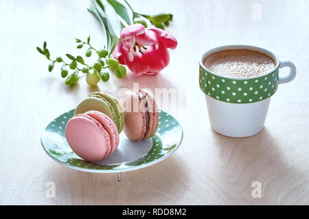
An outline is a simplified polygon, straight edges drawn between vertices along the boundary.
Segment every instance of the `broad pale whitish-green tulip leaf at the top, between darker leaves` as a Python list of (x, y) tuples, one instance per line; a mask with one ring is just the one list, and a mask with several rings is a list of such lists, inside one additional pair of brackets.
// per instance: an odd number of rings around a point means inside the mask
[[(96, 1), (98, 2), (100, 0)], [(106, 21), (109, 33), (111, 34), (111, 36), (120, 38), (122, 25), (120, 23), (117, 13), (115, 12), (115, 9), (106, 0), (102, 0), (100, 2), (102, 2), (102, 4), (104, 5), (104, 12), (106, 14)]]

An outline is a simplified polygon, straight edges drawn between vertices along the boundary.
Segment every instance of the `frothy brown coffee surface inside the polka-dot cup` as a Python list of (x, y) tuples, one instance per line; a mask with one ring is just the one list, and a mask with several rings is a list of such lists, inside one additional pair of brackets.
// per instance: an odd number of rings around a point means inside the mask
[(230, 49), (208, 55), (204, 66), (218, 75), (243, 78), (271, 72), (275, 61), (267, 55), (249, 49)]

